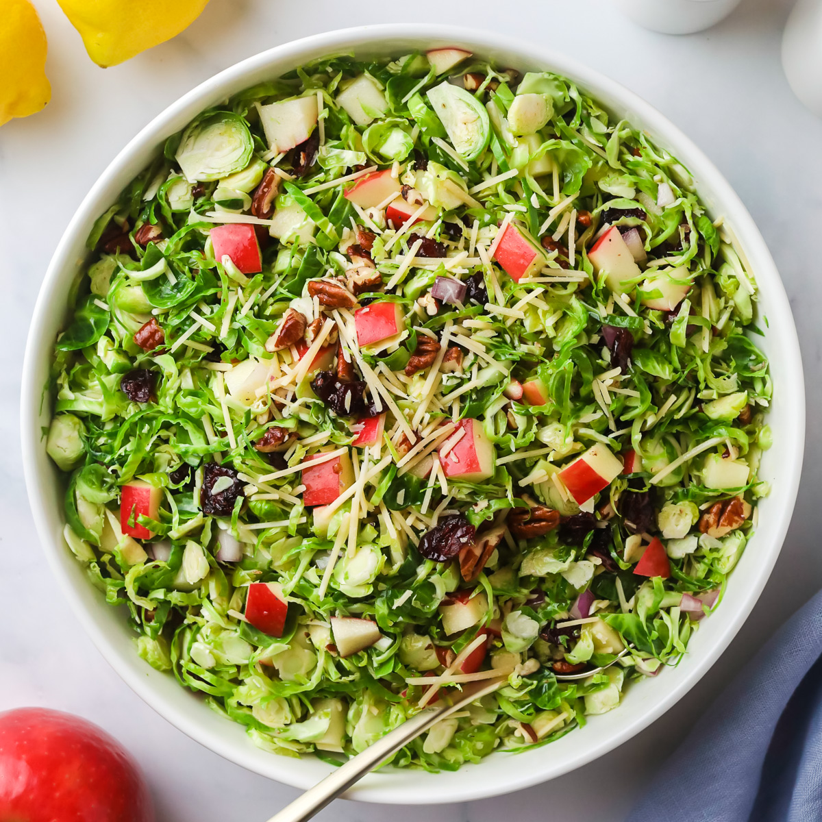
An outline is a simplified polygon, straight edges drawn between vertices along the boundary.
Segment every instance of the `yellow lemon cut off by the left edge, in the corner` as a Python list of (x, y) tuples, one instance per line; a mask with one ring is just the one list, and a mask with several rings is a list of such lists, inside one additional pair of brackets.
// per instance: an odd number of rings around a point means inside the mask
[(46, 35), (29, 0), (0, 0), (0, 126), (28, 117), (51, 99)]

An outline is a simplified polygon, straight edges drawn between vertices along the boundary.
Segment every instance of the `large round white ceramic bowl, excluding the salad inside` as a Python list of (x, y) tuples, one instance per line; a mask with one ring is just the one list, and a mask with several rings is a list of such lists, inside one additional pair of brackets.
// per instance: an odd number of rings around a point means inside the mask
[(592, 717), (584, 728), (550, 746), (518, 755), (495, 753), (481, 764), (466, 765), (456, 773), (386, 770), (372, 774), (349, 794), (366, 801), (404, 805), (464, 801), (514, 791), (579, 768), (630, 739), (677, 702), (716, 661), (745, 621), (774, 566), (797, 493), (804, 441), (805, 405), (797, 334), (774, 261), (759, 231), (745, 206), (702, 152), (660, 113), (621, 85), (547, 48), (502, 39), (490, 32), (375, 25), (272, 48), (221, 72), (166, 109), (120, 152), (92, 187), (72, 217), (40, 290), (22, 385), (25, 478), (39, 537), (77, 617), (109, 663), (169, 722), (229, 760), (297, 787), (309, 787), (326, 775), (329, 766), (319, 760), (291, 759), (256, 748), (240, 725), (221, 718), (183, 690), (173, 677), (156, 672), (136, 655), (125, 609), (114, 609), (104, 602), (63, 543), (62, 488), (45, 454), (41, 433), (49, 420), (48, 403), (43, 402), (44, 385), (54, 338), (66, 318), (67, 293), (86, 256), (85, 238), (91, 225), (167, 136), (185, 126), (201, 109), (313, 58), (352, 50), (360, 55), (400, 54), (457, 44), (506, 66), (550, 69), (570, 77), (620, 118), (646, 128), (672, 150), (694, 173), (712, 213), (725, 215), (759, 282), (760, 306), (769, 320), (760, 342), (771, 359), (774, 376), (775, 399), (769, 416), (774, 447), (763, 459), (761, 474), (773, 483), (773, 491), (762, 501), (758, 532), (733, 572), (723, 603), (714, 616), (700, 623), (679, 667), (630, 687), (619, 709)]

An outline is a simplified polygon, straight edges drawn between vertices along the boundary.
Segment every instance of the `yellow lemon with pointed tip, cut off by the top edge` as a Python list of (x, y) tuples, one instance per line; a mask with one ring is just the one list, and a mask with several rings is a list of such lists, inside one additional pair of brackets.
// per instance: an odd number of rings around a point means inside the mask
[[(0, 0), (2, 2), (2, 0)], [(116, 66), (191, 25), (208, 0), (58, 0), (98, 66)]]

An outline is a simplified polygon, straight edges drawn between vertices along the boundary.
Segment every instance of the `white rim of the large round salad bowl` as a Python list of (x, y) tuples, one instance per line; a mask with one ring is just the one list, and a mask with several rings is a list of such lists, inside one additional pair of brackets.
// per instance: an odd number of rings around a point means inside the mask
[[(109, 631), (104, 630), (104, 626), (95, 620), (93, 608), (85, 596), (87, 592), (81, 590), (81, 586), (69, 573), (68, 563), (74, 560), (70, 556), (67, 559), (68, 552), (62, 544), (62, 539), (55, 534), (54, 526), (58, 524), (58, 520), (61, 520), (59, 524), (62, 528), (62, 515), (56, 514), (47, 504), (44, 493), (44, 487), (53, 481), (47, 476), (48, 468), (44, 461), (44, 443), (40, 427), (44, 403), (41, 364), (48, 362), (44, 358), (50, 357), (53, 345), (54, 324), (53, 318), (49, 316), (51, 294), (59, 292), (61, 287), (63, 291), (66, 290), (64, 281), (67, 279), (67, 271), (78, 262), (76, 250), (73, 249), (78, 237), (82, 234), (82, 241), (85, 242), (90, 224), (108, 207), (108, 201), (103, 204), (101, 197), (112, 187), (113, 182), (119, 180), (118, 185), (123, 187), (136, 173), (135, 169), (139, 169), (145, 163), (145, 159), (142, 159), (140, 164), (135, 166), (136, 159), (146, 155), (149, 148), (153, 149), (161, 144), (166, 136), (178, 131), (187, 120), (207, 105), (240, 90), (244, 87), (243, 83), (251, 85), (252, 81), (247, 78), (255, 72), (266, 70), (266, 67), (274, 63), (288, 63), (296, 67), (321, 54), (342, 53), (353, 49), (358, 49), (361, 53), (386, 52), (389, 50), (386, 43), (397, 44), (390, 48), (395, 53), (397, 49), (401, 51), (402, 48), (437, 48), (461, 44), (474, 52), (489, 56), (500, 52), (517, 55), (520, 64), (542, 65), (552, 72), (569, 76), (584, 89), (592, 90), (595, 98), (605, 95), (616, 99), (622, 109), (630, 112), (630, 118), (648, 127), (657, 141), (672, 147), (677, 158), (685, 162), (691, 171), (695, 172), (695, 176), (709, 181), (709, 187), (716, 201), (721, 204), (723, 214), (729, 217), (728, 222), (733, 226), (737, 242), (746, 256), (755, 260), (755, 276), (760, 286), (764, 282), (769, 285), (769, 316), (778, 317), (779, 347), (787, 352), (786, 372), (780, 374), (780, 399), (783, 405), (781, 412), (786, 417), (786, 441), (782, 443), (780, 459), (787, 464), (787, 469), (781, 478), (780, 487), (775, 492), (781, 505), (774, 515), (773, 527), (769, 531), (770, 543), (763, 543), (760, 546), (763, 553), (757, 566), (758, 571), (746, 593), (737, 597), (741, 598), (741, 602), (737, 603), (737, 611), (723, 614), (723, 626), (718, 630), (710, 649), (703, 651), (700, 658), (689, 663), (688, 670), (681, 672), (677, 680), (672, 681), (666, 694), (649, 710), (633, 720), (627, 721), (626, 716), (626, 722), (614, 732), (606, 734), (607, 738), (595, 741), (585, 750), (579, 750), (561, 762), (547, 762), (536, 768), (522, 767), (515, 773), (508, 774), (502, 784), (495, 783), (493, 779), (456, 778), (457, 774), (464, 773), (467, 769), (482, 768), (482, 765), (468, 765), (455, 774), (441, 774), (438, 783), (428, 778), (432, 774), (418, 771), (402, 772), (413, 774), (413, 778), (387, 778), (385, 775), (380, 778), (379, 774), (372, 774), (346, 795), (363, 801), (409, 805), (469, 801), (530, 787), (588, 764), (634, 737), (680, 700), (716, 662), (754, 607), (782, 547), (797, 496), (805, 432), (804, 381), (797, 331), (778, 271), (753, 219), (723, 175), (690, 138), (644, 99), (575, 58), (556, 52), (552, 48), (543, 48), (533, 43), (522, 44), (511, 37), (496, 35), (490, 31), (423, 24), (366, 25), (311, 35), (270, 48), (211, 76), (170, 104), (127, 143), (90, 188), (58, 242), (39, 291), (25, 349), (21, 385), (23, 465), (36, 530), (53, 574), (57, 576), (63, 593), (100, 653), (132, 690), (187, 736), (226, 759), (294, 787), (310, 787), (316, 781), (316, 769), (307, 766), (292, 768), (287, 767), (287, 764), (293, 764), (295, 761), (304, 764), (312, 761), (311, 759), (290, 760), (257, 749), (250, 741), (245, 745), (236, 741), (226, 741), (222, 738), (222, 732), (212, 732), (210, 728), (183, 716), (182, 710), (171, 704), (172, 700), (166, 700), (162, 695), (158, 697), (157, 690), (150, 684), (150, 678), (146, 677), (142, 668), (136, 667), (134, 661), (141, 663), (141, 660), (136, 657), (131, 644), (113, 640)], [(399, 45), (402, 43), (406, 45)], [(271, 72), (282, 72), (282, 69), (272, 67)], [(179, 124), (181, 122), (182, 125)], [(700, 191), (699, 186), (697, 189)], [(89, 585), (88, 588), (90, 587)], [(98, 592), (93, 593), (99, 596)], [(174, 685), (182, 693), (182, 688), (177, 683)], [(229, 737), (229, 734), (226, 733), (225, 737)], [(244, 735), (243, 739), (245, 740)], [(518, 759), (526, 755), (520, 754)]]

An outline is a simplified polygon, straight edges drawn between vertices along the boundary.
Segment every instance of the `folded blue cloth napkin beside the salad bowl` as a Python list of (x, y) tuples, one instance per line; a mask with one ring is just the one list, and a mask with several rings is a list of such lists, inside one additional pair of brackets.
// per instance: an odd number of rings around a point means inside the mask
[(626, 822), (822, 820), (822, 591), (711, 706)]

